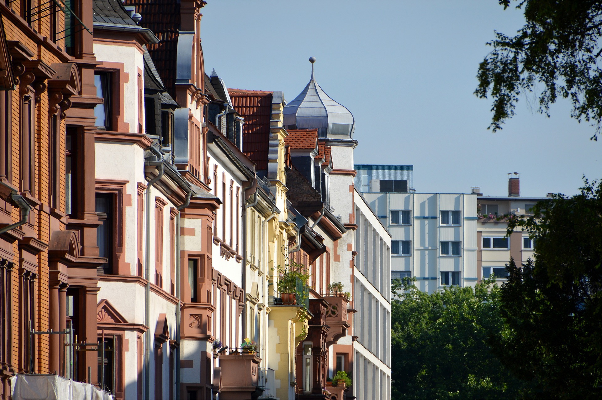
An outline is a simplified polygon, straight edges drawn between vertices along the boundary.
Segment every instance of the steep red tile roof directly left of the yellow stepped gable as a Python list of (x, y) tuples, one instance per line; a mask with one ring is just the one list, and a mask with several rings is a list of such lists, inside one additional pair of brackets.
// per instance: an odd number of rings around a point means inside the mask
[(267, 170), (272, 92), (264, 90), (228, 89), (232, 106), (244, 118), (243, 153), (256, 164), (258, 171)]

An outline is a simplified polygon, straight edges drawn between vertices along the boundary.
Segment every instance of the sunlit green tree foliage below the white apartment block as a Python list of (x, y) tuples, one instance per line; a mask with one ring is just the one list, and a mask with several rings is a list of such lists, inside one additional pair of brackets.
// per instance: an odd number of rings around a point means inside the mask
[(398, 283), (391, 304), (391, 387), (394, 399), (514, 398), (520, 384), (492, 354), (490, 332), (506, 331), (500, 288), (427, 294)]

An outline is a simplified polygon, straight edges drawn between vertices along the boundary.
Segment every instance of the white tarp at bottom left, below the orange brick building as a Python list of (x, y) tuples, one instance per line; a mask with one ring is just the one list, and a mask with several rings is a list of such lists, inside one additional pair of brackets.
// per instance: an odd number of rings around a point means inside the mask
[(113, 400), (89, 383), (75, 382), (58, 375), (16, 375), (10, 378), (13, 400)]

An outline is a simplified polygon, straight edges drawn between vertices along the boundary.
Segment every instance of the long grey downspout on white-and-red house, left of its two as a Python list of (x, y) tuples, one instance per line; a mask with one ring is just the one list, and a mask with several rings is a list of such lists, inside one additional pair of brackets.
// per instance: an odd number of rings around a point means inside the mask
[(144, 278), (146, 286), (144, 287), (144, 325), (147, 330), (144, 333), (144, 398), (151, 399), (151, 186), (157, 183), (163, 173), (163, 154), (152, 146), (147, 147), (158, 161), (145, 161), (145, 166), (157, 167), (159, 173), (151, 179), (146, 186), (146, 260), (144, 266)]

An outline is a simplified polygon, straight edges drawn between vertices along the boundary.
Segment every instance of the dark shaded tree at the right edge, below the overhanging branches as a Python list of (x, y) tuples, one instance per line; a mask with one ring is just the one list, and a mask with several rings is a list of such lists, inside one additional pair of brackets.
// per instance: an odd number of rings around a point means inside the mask
[(602, 397), (602, 182), (585, 183), (509, 223), (536, 239), (535, 262), (507, 266), (501, 315), (512, 334), (497, 335), (496, 354), (530, 381), (526, 398)]

